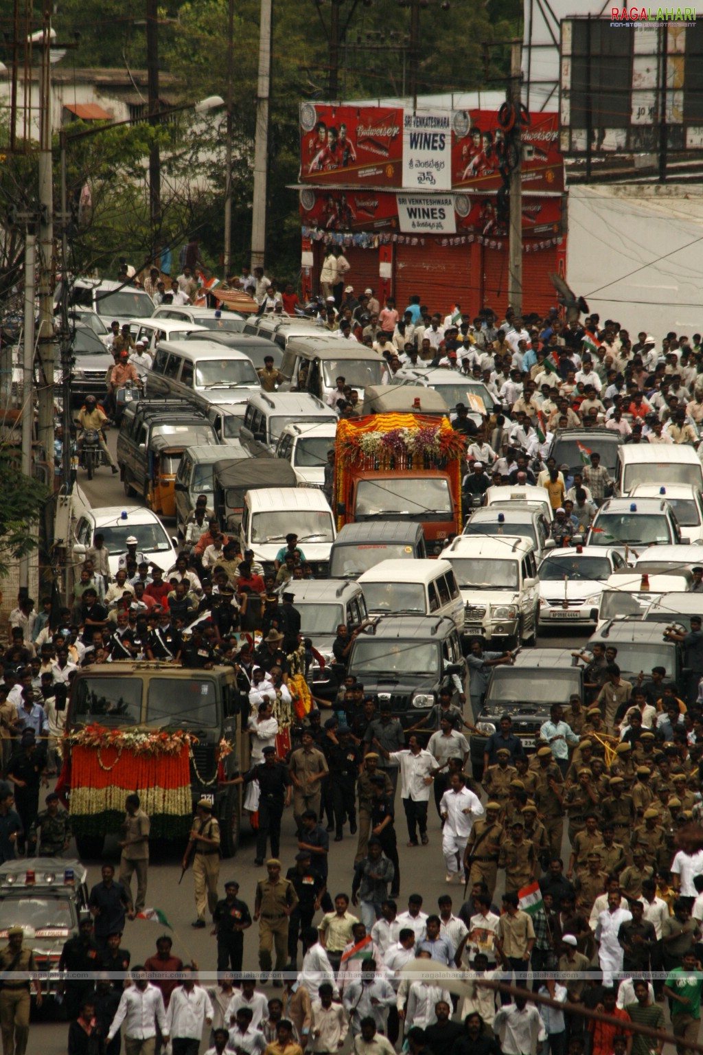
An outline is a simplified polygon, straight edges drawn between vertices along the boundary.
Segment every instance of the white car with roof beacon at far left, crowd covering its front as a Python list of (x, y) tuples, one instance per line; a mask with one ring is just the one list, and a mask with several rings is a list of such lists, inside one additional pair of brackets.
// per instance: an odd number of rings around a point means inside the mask
[(164, 572), (176, 563), (177, 540), (167, 534), (155, 513), (141, 505), (103, 505), (96, 510), (83, 505), (74, 532), (73, 557), (77, 563), (84, 559), (97, 533), (104, 538), (113, 576), (131, 535), (137, 539), (137, 553), (142, 553), (144, 560), (155, 561)]

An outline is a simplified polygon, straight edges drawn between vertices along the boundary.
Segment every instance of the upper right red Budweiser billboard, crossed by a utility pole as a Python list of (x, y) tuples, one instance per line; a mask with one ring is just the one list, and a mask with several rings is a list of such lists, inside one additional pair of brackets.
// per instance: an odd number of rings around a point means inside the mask
[[(452, 121), (451, 183), (455, 189), (496, 191), (508, 168), (505, 132), (497, 113), (456, 111)], [(504, 178), (504, 176), (506, 178)], [(564, 161), (558, 114), (532, 114), (523, 128), (523, 186), (526, 190), (563, 191)]]

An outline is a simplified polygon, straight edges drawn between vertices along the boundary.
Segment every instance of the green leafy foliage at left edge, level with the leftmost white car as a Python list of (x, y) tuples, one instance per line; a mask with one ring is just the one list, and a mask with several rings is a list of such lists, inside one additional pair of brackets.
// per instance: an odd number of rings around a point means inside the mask
[(20, 472), (14, 448), (0, 446), (0, 577), (4, 578), (14, 561), (37, 548), (31, 529), (39, 522), (48, 491)]

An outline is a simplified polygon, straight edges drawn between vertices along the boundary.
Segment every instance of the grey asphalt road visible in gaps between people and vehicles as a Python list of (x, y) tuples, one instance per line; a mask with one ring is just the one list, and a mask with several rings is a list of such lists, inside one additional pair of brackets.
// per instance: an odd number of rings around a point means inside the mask
[[(110, 445), (115, 448), (116, 433), (110, 435)], [(78, 483), (87, 495), (93, 505), (119, 505), (125, 501), (122, 485), (119, 477), (112, 476), (110, 469), (100, 468), (92, 481), (87, 481), (84, 472), (79, 469)], [(131, 498), (130, 502), (135, 499)], [(167, 523), (167, 529), (171, 524)], [(585, 635), (573, 636), (552, 636), (543, 634), (541, 646), (543, 647), (577, 647), (585, 644)], [(485, 795), (484, 795), (485, 799)], [(407, 907), (408, 897), (418, 893), (424, 898), (424, 910), (428, 913), (437, 910), (437, 898), (442, 894), (449, 891), (454, 900), (454, 907), (457, 910), (463, 901), (463, 887), (449, 886), (445, 881), (445, 866), (442, 856), (442, 840), (440, 820), (434, 810), (433, 801), (430, 800), (430, 822), (428, 846), (408, 848), (407, 830), (399, 794), (396, 803), (398, 810), (398, 821), (396, 830), (398, 835), (398, 848), (401, 858), (402, 887), (398, 908), (404, 910)], [(353, 859), (356, 847), (356, 838), (351, 837), (346, 829), (345, 838), (340, 843), (331, 844), (329, 857), (330, 878), (329, 889), (334, 897), (336, 893), (351, 890), (351, 879), (353, 870)], [(181, 957), (183, 961), (195, 960), (203, 971), (215, 968), (215, 939), (210, 936), (210, 931), (196, 931), (191, 927), (195, 919), (193, 900), (193, 878), (189, 872), (178, 884), (180, 876), (180, 853), (182, 847), (174, 847), (173, 852), (161, 851), (152, 861), (149, 872), (148, 904), (161, 908), (173, 925), (174, 953)], [(73, 850), (75, 853), (75, 849)], [(284, 818), (282, 839), (280, 846), (280, 857), (284, 868), (294, 863), (297, 845), (295, 841), (295, 830), (291, 811), (288, 810)], [(69, 851), (66, 856), (71, 856)], [(116, 841), (110, 840), (105, 846), (105, 859), (117, 863), (119, 848)], [(239, 896), (253, 907), (254, 889), (256, 881), (265, 878), (266, 869), (254, 867), (254, 840), (248, 821), (242, 824), (242, 838), (239, 850), (235, 858), (222, 861), (220, 866), (220, 890), (223, 894), (223, 882), (226, 879), (234, 878), (240, 884)], [(92, 863), (89, 870), (89, 884), (100, 880), (99, 863)], [(499, 880), (500, 883), (500, 880)], [(499, 886), (499, 894), (501, 887)], [(132, 954), (132, 962), (138, 963), (151, 955), (155, 950), (156, 938), (162, 933), (162, 928), (154, 923), (144, 921), (134, 921), (126, 923), (123, 946)], [(256, 924), (247, 933), (245, 940), (245, 967), (256, 970), (257, 961), (257, 934)], [(299, 961), (298, 961), (299, 962)], [(270, 991), (271, 993), (275, 991)], [(28, 1051), (39, 1052), (43, 1055), (63, 1055), (65, 1053), (67, 1027), (65, 1023), (36, 1023), (32, 1027)], [(207, 1040), (207, 1038), (206, 1038)], [(203, 1041), (201, 1051), (207, 1048)]]

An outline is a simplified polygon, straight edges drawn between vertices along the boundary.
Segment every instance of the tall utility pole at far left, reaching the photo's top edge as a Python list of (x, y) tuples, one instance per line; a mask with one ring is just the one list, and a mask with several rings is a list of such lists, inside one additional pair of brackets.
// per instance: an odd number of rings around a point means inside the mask
[[(39, 92), (39, 340), (42, 384), (37, 439), (47, 461), (54, 458), (54, 188), (52, 177), (52, 0), (44, 0)], [(33, 287), (34, 298), (34, 287)], [(34, 318), (34, 299), (32, 315)], [(25, 332), (27, 319), (25, 311)]]

